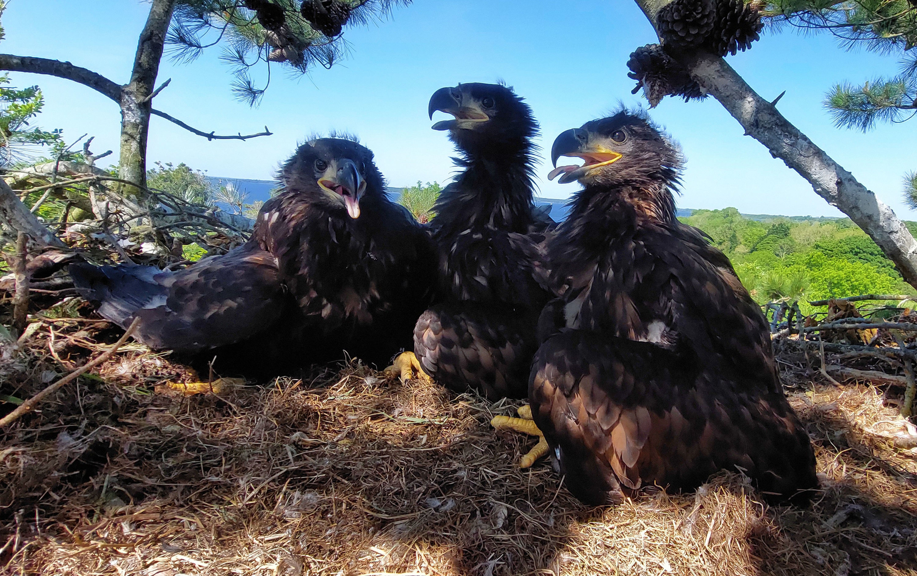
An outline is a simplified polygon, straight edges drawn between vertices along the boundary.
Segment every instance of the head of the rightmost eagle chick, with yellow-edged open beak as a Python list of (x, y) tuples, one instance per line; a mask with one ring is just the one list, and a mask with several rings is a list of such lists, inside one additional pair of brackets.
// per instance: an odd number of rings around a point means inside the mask
[[(583, 163), (558, 166), (561, 156)], [(556, 168), (547, 175), (550, 180), (561, 175), (558, 183), (626, 192), (626, 200), (660, 215), (674, 210), (672, 193), (678, 191), (684, 163), (678, 144), (646, 114), (626, 109), (561, 132), (551, 161)]]

